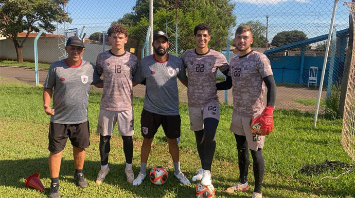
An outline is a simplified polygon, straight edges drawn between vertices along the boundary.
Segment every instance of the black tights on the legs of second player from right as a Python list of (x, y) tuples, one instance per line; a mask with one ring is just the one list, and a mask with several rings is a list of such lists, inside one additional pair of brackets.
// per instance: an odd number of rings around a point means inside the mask
[(195, 131), (197, 151), (202, 168), (210, 171), (216, 150), (216, 130), (219, 121), (215, 118), (205, 118), (203, 123), (204, 129)]

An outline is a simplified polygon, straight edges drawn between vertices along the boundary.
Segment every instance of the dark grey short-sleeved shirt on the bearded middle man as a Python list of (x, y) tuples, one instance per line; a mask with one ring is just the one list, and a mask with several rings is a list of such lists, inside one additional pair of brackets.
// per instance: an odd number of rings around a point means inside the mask
[(154, 55), (143, 58), (133, 80), (146, 80), (146, 96), (143, 108), (160, 115), (179, 115), (178, 82), (187, 79), (181, 58), (168, 54), (165, 62), (158, 62)]

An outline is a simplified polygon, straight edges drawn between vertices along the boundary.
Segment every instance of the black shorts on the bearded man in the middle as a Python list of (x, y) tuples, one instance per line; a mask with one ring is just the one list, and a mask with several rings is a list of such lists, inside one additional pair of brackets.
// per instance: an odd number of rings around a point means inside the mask
[(140, 115), (140, 130), (143, 137), (154, 137), (160, 125), (162, 125), (164, 133), (168, 138), (180, 137), (180, 115), (159, 115), (143, 109)]

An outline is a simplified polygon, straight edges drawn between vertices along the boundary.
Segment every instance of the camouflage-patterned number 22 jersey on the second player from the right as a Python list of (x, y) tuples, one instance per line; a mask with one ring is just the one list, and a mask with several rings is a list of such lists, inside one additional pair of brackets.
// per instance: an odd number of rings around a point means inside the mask
[(218, 102), (217, 69), (223, 72), (229, 68), (224, 55), (212, 49), (205, 54), (198, 54), (193, 49), (184, 52), (181, 58), (188, 73), (189, 107), (203, 107), (209, 102)]

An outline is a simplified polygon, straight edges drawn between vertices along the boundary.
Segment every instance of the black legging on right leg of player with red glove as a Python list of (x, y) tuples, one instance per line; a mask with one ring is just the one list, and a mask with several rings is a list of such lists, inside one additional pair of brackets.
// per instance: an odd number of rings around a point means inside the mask
[(264, 169), (265, 162), (264, 157), (262, 156), (262, 149), (258, 149), (258, 151), (253, 151), (253, 171), (254, 171), (254, 179), (255, 179), (255, 188), (254, 192), (261, 193), (262, 180), (264, 178)]

